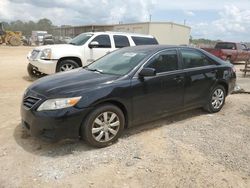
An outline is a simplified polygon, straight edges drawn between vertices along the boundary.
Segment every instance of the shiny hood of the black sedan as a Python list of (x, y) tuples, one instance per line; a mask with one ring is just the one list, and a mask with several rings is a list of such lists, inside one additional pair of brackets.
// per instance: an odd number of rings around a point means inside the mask
[(83, 68), (46, 76), (34, 82), (28, 89), (46, 97), (76, 95), (88, 90), (105, 87), (119, 76), (92, 72)]

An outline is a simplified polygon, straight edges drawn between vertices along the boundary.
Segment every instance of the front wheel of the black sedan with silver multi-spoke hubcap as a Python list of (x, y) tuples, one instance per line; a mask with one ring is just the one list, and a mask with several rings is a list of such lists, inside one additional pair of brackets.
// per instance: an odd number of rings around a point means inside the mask
[(106, 147), (120, 137), (124, 124), (124, 114), (120, 108), (111, 104), (98, 106), (86, 118), (81, 135), (94, 147)]

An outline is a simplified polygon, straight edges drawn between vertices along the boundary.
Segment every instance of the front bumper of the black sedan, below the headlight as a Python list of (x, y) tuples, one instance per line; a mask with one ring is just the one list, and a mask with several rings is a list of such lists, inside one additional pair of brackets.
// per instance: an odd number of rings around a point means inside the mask
[(74, 107), (37, 112), (21, 106), (22, 126), (31, 136), (47, 140), (79, 138), (79, 131), (84, 118), (91, 108), (77, 109)]

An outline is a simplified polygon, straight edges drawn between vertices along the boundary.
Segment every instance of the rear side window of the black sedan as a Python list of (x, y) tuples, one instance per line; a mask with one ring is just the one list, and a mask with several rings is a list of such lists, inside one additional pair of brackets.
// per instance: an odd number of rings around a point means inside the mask
[(185, 68), (215, 65), (207, 56), (195, 50), (181, 50), (181, 55)]

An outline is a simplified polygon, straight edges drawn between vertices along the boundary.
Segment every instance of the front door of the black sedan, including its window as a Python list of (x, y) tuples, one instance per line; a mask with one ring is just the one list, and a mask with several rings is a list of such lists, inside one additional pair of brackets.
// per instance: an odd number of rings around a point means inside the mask
[(157, 53), (144, 67), (154, 68), (156, 75), (132, 79), (135, 124), (166, 115), (183, 106), (184, 74), (177, 50)]

